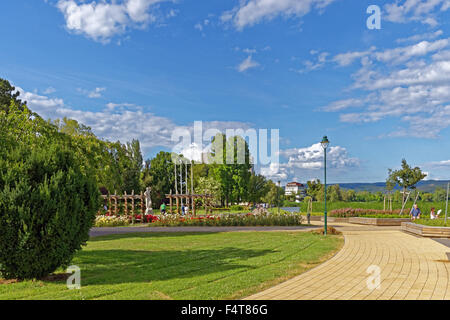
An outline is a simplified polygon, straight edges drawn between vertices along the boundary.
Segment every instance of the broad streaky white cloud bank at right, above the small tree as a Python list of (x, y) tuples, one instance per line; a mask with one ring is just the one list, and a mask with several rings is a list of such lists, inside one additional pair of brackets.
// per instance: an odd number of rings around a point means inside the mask
[[(362, 56), (350, 87), (357, 96), (321, 110), (340, 112), (340, 120), (348, 123), (397, 118), (407, 124), (384, 137), (435, 138), (450, 127), (449, 47), (450, 38), (446, 38), (355, 54)], [(356, 111), (346, 113), (349, 108)]]

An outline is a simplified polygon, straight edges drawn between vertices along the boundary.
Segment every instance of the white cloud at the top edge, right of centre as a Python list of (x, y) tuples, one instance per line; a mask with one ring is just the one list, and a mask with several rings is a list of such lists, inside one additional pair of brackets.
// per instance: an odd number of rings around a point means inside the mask
[(278, 16), (302, 17), (312, 10), (320, 11), (332, 2), (334, 0), (244, 0), (233, 10), (223, 13), (221, 20), (242, 30)]

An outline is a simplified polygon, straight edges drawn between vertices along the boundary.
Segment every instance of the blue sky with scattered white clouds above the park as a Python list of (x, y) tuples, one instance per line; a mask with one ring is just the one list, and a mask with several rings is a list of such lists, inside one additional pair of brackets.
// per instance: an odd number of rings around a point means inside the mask
[(0, 77), (146, 157), (203, 121), (279, 129), (272, 179), (320, 178), (323, 135), (332, 182), (402, 158), (450, 179), (449, 18), (449, 0), (5, 0)]

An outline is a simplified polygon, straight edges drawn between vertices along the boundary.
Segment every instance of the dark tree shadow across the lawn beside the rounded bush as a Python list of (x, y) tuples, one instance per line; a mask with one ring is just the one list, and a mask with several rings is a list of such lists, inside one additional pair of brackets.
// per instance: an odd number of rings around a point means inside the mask
[(272, 250), (221, 248), (212, 250), (91, 250), (74, 261), (81, 268), (83, 284), (120, 284), (194, 278), (255, 266), (236, 263), (273, 253)]

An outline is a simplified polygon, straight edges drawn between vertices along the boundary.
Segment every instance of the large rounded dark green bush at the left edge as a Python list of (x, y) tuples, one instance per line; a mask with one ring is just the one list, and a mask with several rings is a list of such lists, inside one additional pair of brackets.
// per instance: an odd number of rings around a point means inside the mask
[(70, 141), (35, 138), (2, 141), (8, 148), (0, 152), (0, 276), (6, 279), (42, 278), (67, 266), (88, 240), (99, 208), (96, 184), (82, 173)]

